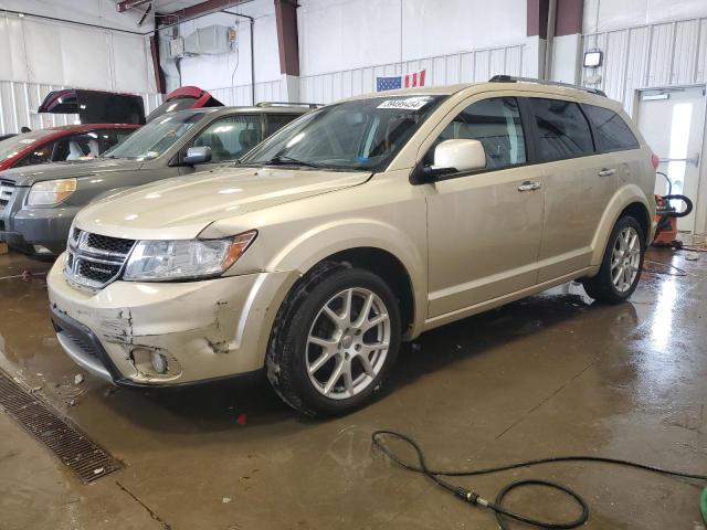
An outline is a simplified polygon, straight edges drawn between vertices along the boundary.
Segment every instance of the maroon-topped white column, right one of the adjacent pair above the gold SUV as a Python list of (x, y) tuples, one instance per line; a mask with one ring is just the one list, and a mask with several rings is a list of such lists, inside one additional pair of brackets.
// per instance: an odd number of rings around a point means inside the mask
[(552, 80), (579, 85), (582, 81), (582, 20), (584, 0), (557, 2)]

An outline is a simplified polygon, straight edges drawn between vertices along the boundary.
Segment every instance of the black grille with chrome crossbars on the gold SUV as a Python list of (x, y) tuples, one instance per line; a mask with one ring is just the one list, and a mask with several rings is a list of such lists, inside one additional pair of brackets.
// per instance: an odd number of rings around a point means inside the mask
[(73, 229), (66, 246), (64, 275), (71, 283), (82, 287), (105, 287), (120, 275), (134, 245), (135, 240)]

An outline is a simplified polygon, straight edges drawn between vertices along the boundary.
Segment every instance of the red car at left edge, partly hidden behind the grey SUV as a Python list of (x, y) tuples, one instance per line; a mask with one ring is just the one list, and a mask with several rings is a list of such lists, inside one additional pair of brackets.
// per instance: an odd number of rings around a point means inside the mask
[(0, 171), (95, 158), (138, 127), (137, 124), (65, 125), (12, 136), (0, 141)]

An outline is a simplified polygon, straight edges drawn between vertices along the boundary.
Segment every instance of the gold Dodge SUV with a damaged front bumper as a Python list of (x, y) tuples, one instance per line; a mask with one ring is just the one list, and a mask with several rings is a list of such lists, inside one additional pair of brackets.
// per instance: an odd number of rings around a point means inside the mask
[(595, 91), (500, 77), (355, 97), (235, 167), (81, 211), (49, 275), (52, 320), (116, 384), (265, 369), (298, 411), (340, 414), (429, 329), (572, 279), (626, 299), (654, 179)]

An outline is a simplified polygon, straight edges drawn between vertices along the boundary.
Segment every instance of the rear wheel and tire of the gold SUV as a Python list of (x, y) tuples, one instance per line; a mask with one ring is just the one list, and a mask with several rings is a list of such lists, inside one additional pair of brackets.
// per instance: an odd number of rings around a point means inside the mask
[(641, 224), (631, 215), (616, 221), (611, 231), (599, 274), (582, 280), (589, 296), (605, 304), (621, 304), (639, 285), (645, 236)]

